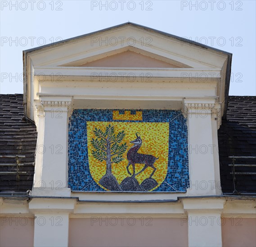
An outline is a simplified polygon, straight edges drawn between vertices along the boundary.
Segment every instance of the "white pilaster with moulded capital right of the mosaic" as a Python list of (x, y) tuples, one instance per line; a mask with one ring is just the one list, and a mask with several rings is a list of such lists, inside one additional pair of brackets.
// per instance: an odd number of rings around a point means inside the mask
[[(217, 119), (213, 119), (215, 99), (184, 99), (188, 118), (189, 176), (188, 195), (216, 195), (220, 186), (215, 167)], [(215, 164), (216, 163), (216, 164)]]

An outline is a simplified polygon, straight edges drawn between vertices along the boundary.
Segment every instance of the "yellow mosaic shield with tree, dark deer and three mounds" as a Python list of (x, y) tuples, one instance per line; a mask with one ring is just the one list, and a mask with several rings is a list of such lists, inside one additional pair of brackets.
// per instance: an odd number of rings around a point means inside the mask
[(168, 123), (87, 123), (90, 174), (105, 190), (145, 191), (165, 180)]

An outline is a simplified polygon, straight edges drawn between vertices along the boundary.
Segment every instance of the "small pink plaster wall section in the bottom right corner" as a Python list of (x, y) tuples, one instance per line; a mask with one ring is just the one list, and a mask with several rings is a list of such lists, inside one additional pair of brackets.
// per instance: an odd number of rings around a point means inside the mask
[(223, 247), (256, 246), (256, 218), (224, 218), (221, 224)]

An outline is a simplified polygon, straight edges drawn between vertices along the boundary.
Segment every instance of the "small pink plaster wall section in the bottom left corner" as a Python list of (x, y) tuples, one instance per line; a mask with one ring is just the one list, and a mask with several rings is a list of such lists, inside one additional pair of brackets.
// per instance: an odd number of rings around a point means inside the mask
[(0, 217), (0, 247), (33, 246), (34, 218)]

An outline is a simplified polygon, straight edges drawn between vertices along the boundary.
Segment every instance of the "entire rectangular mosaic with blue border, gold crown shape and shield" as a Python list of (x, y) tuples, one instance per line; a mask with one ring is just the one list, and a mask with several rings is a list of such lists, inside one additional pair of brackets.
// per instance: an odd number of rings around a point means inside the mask
[(186, 192), (186, 122), (180, 110), (74, 110), (68, 132), (69, 187)]

